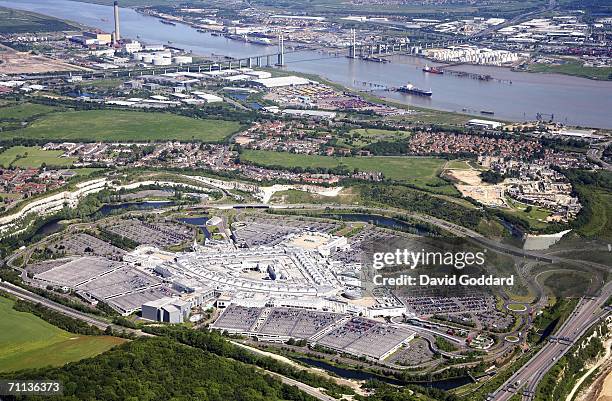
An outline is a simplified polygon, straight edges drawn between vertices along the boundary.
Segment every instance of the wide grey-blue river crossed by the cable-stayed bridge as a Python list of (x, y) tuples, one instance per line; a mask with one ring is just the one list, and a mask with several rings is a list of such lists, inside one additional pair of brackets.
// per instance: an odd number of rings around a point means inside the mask
[[(70, 0), (0, 0), (0, 6), (12, 7), (94, 26), (113, 29), (112, 7)], [(120, 13), (123, 37), (147, 43), (167, 43), (191, 50), (199, 55), (248, 57), (274, 53), (275, 46), (259, 46), (224, 37), (200, 33), (184, 24), (166, 25), (157, 18), (142, 15), (129, 8)], [(452, 74), (425, 74), (421, 67), (426, 60), (410, 56), (391, 57), (391, 63), (333, 57), (317, 51), (301, 51), (286, 56), (288, 70), (318, 74), (331, 81), (363, 89), (359, 82), (374, 82), (388, 87), (406, 82), (431, 89), (431, 98), (380, 92), (379, 95), (402, 103), (438, 110), (469, 113), (479, 116), (481, 110), (495, 112), (503, 120), (533, 120), (536, 113), (553, 114), (555, 121), (602, 128), (612, 128), (612, 82), (592, 81), (558, 74), (515, 72), (507, 68), (486, 66), (453, 67), (493, 76), (491, 81), (461, 78)], [(436, 65), (435, 63), (429, 63)], [(510, 81), (512, 83), (510, 83)]]

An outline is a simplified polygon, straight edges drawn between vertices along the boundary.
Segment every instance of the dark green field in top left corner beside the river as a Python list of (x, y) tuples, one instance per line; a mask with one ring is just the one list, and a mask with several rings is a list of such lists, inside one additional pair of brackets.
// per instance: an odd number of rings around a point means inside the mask
[(0, 33), (53, 32), (75, 29), (64, 21), (27, 11), (0, 7)]

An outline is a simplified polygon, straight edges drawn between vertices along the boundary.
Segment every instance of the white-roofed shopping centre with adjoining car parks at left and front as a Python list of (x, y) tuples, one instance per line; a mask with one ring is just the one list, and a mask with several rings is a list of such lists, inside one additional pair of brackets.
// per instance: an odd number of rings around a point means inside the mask
[[(134, 220), (124, 228), (133, 231), (139, 224), (145, 223)], [(361, 264), (336, 257), (353, 251), (346, 237), (293, 229), (266, 245), (207, 239), (204, 245), (194, 240), (188, 251), (170, 252), (162, 245), (185, 239), (184, 226), (146, 224), (155, 235), (115, 257), (122, 260), (57, 260), (43, 264), (34, 280), (152, 321), (182, 323), (214, 306), (221, 313), (213, 330), (261, 341), (305, 340), (374, 360), (414, 338), (405, 326), (374, 320), (401, 316), (406, 308), (399, 301), (390, 305), (388, 294), (380, 302), (363, 302)], [(245, 231), (248, 226), (239, 225)]]

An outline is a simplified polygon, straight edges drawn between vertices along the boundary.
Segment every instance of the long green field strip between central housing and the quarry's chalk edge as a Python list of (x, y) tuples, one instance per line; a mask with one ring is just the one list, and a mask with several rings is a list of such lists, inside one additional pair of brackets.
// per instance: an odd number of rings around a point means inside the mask
[(446, 160), (433, 157), (331, 157), (245, 150), (241, 158), (259, 165), (284, 168), (346, 166), (351, 171), (353, 169), (377, 171), (383, 173), (388, 179), (412, 184), (428, 191), (443, 194), (457, 193), (452, 185), (438, 177)]

